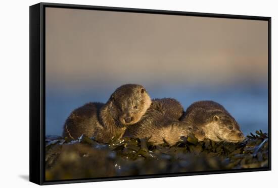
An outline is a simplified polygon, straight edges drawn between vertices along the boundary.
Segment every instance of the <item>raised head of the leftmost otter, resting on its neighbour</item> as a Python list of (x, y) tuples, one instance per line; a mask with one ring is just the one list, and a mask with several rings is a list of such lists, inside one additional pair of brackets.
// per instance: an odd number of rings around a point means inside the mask
[(143, 86), (126, 84), (116, 89), (109, 102), (112, 117), (128, 126), (141, 119), (150, 107), (152, 100)]

